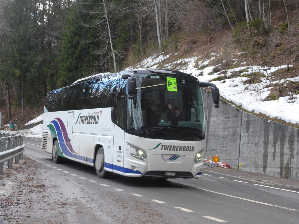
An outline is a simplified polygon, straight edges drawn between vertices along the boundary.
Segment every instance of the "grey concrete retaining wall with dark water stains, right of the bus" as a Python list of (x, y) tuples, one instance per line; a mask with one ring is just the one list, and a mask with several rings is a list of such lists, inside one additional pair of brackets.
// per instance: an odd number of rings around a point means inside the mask
[(205, 159), (219, 156), (231, 168), (299, 180), (299, 129), (244, 111), (203, 90)]

